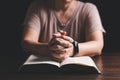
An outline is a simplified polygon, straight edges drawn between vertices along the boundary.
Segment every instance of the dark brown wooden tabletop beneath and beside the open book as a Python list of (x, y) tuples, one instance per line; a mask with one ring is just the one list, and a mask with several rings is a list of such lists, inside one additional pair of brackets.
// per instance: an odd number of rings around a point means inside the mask
[(101, 74), (1, 73), (0, 80), (120, 80), (120, 54), (93, 57)]

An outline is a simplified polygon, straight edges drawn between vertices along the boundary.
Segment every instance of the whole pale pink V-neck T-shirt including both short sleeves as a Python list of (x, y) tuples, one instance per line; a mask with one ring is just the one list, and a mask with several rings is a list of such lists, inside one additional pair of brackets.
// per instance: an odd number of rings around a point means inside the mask
[(39, 0), (31, 4), (28, 9), (24, 25), (36, 30), (40, 42), (49, 42), (52, 34), (59, 30), (67, 32), (67, 36), (78, 42), (86, 41), (89, 34), (100, 30), (105, 32), (96, 6), (92, 3), (78, 1), (77, 8), (69, 20), (62, 24), (58, 20), (53, 8), (41, 5)]

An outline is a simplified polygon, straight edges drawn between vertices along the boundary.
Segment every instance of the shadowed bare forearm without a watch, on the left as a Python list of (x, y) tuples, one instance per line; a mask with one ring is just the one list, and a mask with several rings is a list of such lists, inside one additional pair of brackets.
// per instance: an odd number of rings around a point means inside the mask
[(22, 41), (23, 49), (32, 54), (48, 56), (48, 43), (39, 43), (39, 42), (31, 42), (31, 41)]

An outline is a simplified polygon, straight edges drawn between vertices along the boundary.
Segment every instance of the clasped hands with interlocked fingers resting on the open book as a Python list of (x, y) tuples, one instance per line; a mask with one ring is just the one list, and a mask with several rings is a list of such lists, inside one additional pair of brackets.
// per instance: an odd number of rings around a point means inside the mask
[(53, 38), (49, 42), (50, 56), (57, 61), (63, 61), (64, 59), (73, 55), (73, 39), (66, 36), (66, 32), (60, 30), (53, 34)]

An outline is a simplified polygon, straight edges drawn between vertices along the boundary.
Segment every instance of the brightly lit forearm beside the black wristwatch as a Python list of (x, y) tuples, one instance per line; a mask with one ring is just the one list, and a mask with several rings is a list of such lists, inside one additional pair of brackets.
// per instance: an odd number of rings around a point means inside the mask
[(84, 43), (79, 43), (79, 53), (76, 56), (94, 56), (100, 55), (103, 43), (97, 41), (89, 41)]

